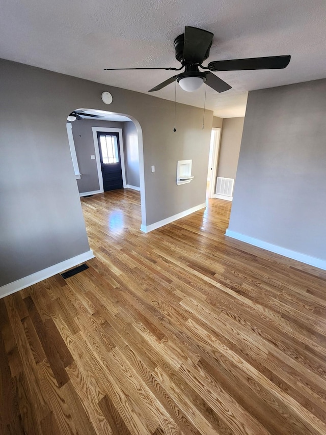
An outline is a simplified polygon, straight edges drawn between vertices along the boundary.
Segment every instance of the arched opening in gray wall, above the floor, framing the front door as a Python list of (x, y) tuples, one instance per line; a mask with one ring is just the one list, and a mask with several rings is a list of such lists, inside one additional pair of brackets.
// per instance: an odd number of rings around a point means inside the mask
[[(94, 108), (78, 108), (73, 114), (76, 116), (67, 119), (67, 133), (79, 196), (101, 194), (115, 187), (139, 191), (145, 222), (143, 135), (139, 122), (128, 114)], [(117, 160), (121, 185), (110, 186), (105, 184), (103, 168), (115, 166), (109, 162)]]

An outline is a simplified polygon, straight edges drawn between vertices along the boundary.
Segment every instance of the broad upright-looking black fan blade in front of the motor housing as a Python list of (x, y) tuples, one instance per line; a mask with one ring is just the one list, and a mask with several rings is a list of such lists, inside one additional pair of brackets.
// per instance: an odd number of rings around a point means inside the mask
[(213, 36), (211, 32), (186, 25), (183, 59), (188, 63), (200, 65), (206, 59), (205, 55), (212, 45)]

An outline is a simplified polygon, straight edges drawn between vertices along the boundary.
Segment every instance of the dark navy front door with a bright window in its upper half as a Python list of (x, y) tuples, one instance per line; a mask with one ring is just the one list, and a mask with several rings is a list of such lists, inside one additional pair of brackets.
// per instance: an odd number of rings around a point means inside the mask
[(104, 192), (123, 188), (119, 133), (98, 131), (97, 140), (100, 150)]

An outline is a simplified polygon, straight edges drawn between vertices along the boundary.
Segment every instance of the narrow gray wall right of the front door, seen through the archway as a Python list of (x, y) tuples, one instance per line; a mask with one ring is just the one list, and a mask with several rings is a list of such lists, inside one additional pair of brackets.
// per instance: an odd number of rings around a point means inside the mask
[(126, 182), (130, 186), (140, 187), (137, 129), (132, 121), (124, 122), (123, 127)]

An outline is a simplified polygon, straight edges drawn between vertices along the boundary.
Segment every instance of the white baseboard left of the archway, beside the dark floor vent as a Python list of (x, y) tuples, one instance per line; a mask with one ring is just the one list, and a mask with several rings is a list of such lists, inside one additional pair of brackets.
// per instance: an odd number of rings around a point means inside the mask
[(76, 255), (76, 257), (69, 258), (68, 260), (62, 261), (61, 263), (54, 264), (53, 266), (40, 270), (35, 274), (20, 278), (20, 280), (3, 285), (2, 287), (0, 287), (0, 298), (8, 296), (9, 294), (15, 293), (16, 291), (29, 287), (30, 285), (36, 284), (40, 281), (43, 281), (46, 278), (50, 278), (53, 275), (60, 274), (64, 270), (70, 269), (77, 264), (84, 263), (85, 261), (90, 260), (94, 257), (95, 256), (93, 254), (93, 251), (90, 249), (83, 254)]

